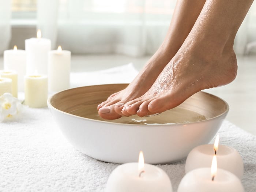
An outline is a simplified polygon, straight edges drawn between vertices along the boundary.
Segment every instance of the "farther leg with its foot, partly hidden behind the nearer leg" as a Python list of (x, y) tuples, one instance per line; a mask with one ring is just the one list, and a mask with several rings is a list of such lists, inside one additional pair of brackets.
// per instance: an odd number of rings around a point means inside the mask
[(205, 0), (177, 1), (168, 33), (162, 45), (126, 89), (110, 95), (105, 102), (98, 105), (99, 115), (102, 118), (120, 118), (124, 115), (122, 113), (124, 103), (142, 96), (150, 89), (163, 68), (187, 38), (204, 3)]

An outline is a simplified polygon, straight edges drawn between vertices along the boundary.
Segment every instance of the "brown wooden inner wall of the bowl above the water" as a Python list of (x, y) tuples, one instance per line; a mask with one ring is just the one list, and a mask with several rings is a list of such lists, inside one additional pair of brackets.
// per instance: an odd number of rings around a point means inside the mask
[[(86, 117), (89, 113), (97, 112), (97, 105), (111, 94), (127, 86), (128, 84), (106, 84), (78, 87), (53, 95), (50, 103), (54, 108), (63, 112)], [(207, 118), (217, 117), (229, 109), (225, 101), (203, 91), (192, 95), (179, 107), (202, 114)]]

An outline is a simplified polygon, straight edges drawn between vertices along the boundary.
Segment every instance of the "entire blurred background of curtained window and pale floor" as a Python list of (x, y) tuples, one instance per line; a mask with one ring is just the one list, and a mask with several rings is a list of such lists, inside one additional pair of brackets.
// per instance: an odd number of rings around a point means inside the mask
[[(139, 70), (161, 45), (176, 0), (0, 0), (0, 68), (3, 51), (25, 49), (42, 37), (72, 52), (71, 70), (95, 71), (132, 62)], [(227, 120), (256, 135), (256, 3), (234, 44), (238, 75), (207, 90), (230, 105)]]

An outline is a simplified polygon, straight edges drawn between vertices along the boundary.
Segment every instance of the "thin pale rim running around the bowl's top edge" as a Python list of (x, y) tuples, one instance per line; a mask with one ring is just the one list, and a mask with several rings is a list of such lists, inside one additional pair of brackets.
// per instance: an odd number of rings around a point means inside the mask
[[(126, 83), (114, 83), (114, 84), (126, 84)], [(104, 86), (104, 85), (109, 85), (109, 84), (100, 84), (100, 85)], [(97, 85), (90, 85), (90, 86), (97, 86)], [(199, 91), (199, 92), (203, 92), (203, 93), (205, 93), (205, 94), (208, 94), (208, 95), (217, 97), (218, 99), (220, 99), (221, 101), (223, 101), (223, 102), (226, 104), (227, 108), (226, 108), (226, 110), (225, 110), (223, 113), (219, 114), (218, 116), (215, 116), (215, 117), (212, 117), (212, 118), (208, 118), (208, 119), (205, 119), (205, 120), (202, 120), (202, 121), (191, 122), (191, 123), (174, 123), (174, 124), (159, 124), (159, 125), (155, 125), (155, 124), (152, 124), (152, 125), (151, 125), (151, 124), (148, 124), (148, 125), (146, 125), (146, 124), (125, 124), (125, 123), (116, 123), (116, 122), (102, 121), (102, 120), (96, 120), (96, 119), (91, 119), (91, 118), (86, 118), (86, 117), (80, 117), (80, 116), (77, 116), (77, 115), (74, 115), (74, 114), (71, 114), (71, 113), (67, 113), (67, 112), (61, 111), (61, 110), (55, 108), (55, 107), (52, 105), (52, 103), (50, 102), (51, 99), (52, 99), (52, 97), (53, 97), (54, 95), (59, 94), (59, 93), (61, 93), (61, 92), (63, 92), (63, 91), (72, 90), (72, 89), (77, 89), (77, 88), (82, 88), (82, 87), (90, 87), (90, 86), (74, 87), (74, 88), (71, 88), (71, 89), (66, 89), (66, 90), (62, 90), (62, 91), (59, 91), (59, 92), (57, 92), (57, 93), (54, 93), (53, 95), (51, 95), (51, 96), (48, 97), (48, 99), (47, 99), (48, 108), (52, 108), (52, 109), (54, 109), (54, 110), (56, 110), (56, 111), (58, 111), (58, 112), (60, 112), (60, 113), (63, 113), (63, 114), (66, 114), (66, 115), (69, 115), (69, 116), (72, 116), (72, 117), (81, 118), (81, 119), (86, 119), (86, 120), (89, 120), (89, 121), (95, 121), (95, 122), (98, 122), (98, 123), (117, 124), (117, 125), (127, 125), (127, 126), (137, 126), (137, 127), (138, 127), (138, 126), (147, 126), (147, 127), (148, 127), (148, 126), (170, 126), (170, 125), (171, 125), (171, 126), (180, 126), (180, 125), (187, 125), (187, 124), (203, 123), (204, 121), (209, 121), (209, 120), (214, 120), (214, 119), (216, 119), (216, 118), (219, 118), (219, 117), (221, 117), (221, 116), (227, 114), (227, 112), (229, 111), (229, 104), (228, 104), (224, 99), (222, 99), (222, 98), (220, 98), (220, 97), (218, 97), (218, 96), (216, 96), (216, 95), (213, 95), (213, 94), (207, 93), (207, 92), (205, 92), (205, 91), (202, 91), (202, 90)], [(197, 92), (197, 93), (198, 93), (198, 92)]]

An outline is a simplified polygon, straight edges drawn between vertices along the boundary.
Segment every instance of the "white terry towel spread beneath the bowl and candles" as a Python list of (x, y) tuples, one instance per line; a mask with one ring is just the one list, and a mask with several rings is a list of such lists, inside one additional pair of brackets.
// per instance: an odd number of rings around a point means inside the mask
[[(133, 79), (136, 75), (135, 71), (129, 73), (135, 70), (132, 65), (124, 65), (119, 69), (88, 72), (86, 75), (89, 79), (96, 74), (112, 76), (113, 79), (127, 74), (133, 75)], [(81, 78), (83, 75), (80, 74)], [(71, 78), (73, 85), (79, 82), (74, 78), (75, 74)], [(106, 82), (104, 79), (103, 83), (116, 82)], [(255, 192), (256, 136), (228, 121), (222, 124), (219, 135), (220, 144), (234, 147), (241, 154), (244, 162), (242, 184), (245, 192)], [(16, 121), (0, 123), (0, 191), (103, 192), (109, 174), (117, 166), (76, 150), (64, 138), (47, 108), (27, 108)], [(165, 170), (172, 181), (173, 191), (177, 191), (185, 175), (185, 159), (157, 166)]]

